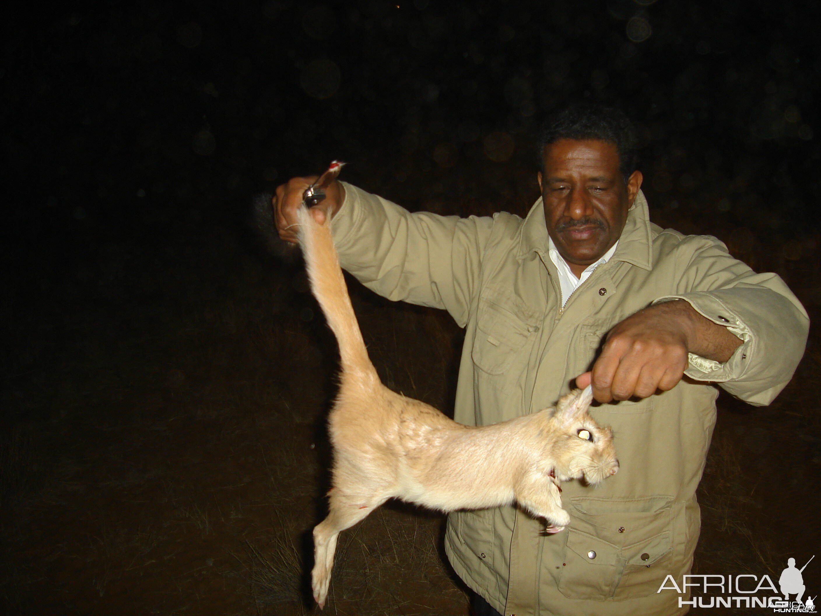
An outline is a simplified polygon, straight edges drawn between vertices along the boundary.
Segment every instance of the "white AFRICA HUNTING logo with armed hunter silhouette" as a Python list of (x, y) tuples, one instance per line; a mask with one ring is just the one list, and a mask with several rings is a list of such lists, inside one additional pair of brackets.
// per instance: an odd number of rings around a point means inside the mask
[[(806, 587), (801, 575), (814, 558), (813, 554), (800, 569), (796, 568), (796, 559), (789, 559), (787, 568), (778, 578), (778, 588), (768, 575), (686, 575), (681, 580), (681, 586), (668, 575), (656, 592), (676, 591), (679, 595), (685, 595), (678, 598), (680, 608), (685, 605), (694, 608), (771, 608), (775, 614), (816, 614), (815, 599), (818, 595), (804, 598)], [(686, 595), (696, 590), (706, 596), (687, 600)]]

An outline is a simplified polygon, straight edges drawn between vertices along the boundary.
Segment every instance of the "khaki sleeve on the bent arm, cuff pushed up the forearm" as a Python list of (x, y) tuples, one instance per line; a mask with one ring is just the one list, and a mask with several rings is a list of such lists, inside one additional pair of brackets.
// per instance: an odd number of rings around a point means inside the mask
[(690, 253), (677, 293), (654, 303), (685, 300), (707, 319), (741, 339), (724, 363), (690, 353), (685, 374), (712, 381), (755, 406), (773, 401), (792, 378), (804, 354), (810, 318), (777, 274), (756, 274), (734, 259), (721, 241), (691, 236)]

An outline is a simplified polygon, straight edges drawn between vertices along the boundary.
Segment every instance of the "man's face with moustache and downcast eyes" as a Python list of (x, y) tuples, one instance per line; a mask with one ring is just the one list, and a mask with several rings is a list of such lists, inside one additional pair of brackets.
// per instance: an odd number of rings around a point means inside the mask
[(625, 183), (616, 145), (599, 140), (558, 140), (544, 149), (543, 160), (539, 186), (548, 233), (578, 276), (618, 241), (641, 172)]

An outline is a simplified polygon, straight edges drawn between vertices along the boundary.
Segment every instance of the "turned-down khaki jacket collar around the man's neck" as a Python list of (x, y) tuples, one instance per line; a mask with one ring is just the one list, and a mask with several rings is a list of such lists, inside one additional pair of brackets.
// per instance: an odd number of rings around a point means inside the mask
[[(519, 241), (519, 259), (524, 259), (531, 252), (539, 254), (543, 260), (548, 256), (548, 227), (544, 223), (544, 205), (542, 198), (530, 208), (530, 212), (521, 225)], [(653, 236), (650, 230), (650, 214), (644, 193), (639, 191), (627, 213), (624, 229), (621, 230), (616, 253), (612, 261), (624, 261), (642, 269), (653, 269)]]

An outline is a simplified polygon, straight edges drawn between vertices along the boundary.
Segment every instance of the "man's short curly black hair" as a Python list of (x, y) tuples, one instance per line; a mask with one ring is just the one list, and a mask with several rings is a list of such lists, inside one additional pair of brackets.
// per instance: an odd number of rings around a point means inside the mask
[(539, 169), (544, 169), (544, 149), (560, 139), (612, 143), (618, 150), (619, 171), (625, 183), (635, 171), (635, 127), (620, 109), (598, 103), (574, 103), (553, 113), (542, 124), (536, 139)]

